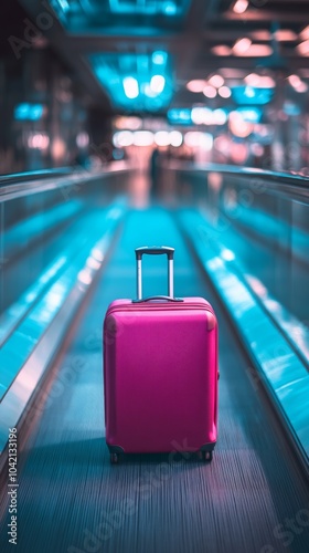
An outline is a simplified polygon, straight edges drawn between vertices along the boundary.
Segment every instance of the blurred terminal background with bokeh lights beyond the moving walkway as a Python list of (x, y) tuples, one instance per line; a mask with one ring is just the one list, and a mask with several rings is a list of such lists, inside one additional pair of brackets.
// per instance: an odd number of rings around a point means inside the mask
[(4, 2), (0, 171), (147, 165), (156, 148), (307, 174), (308, 11), (307, 0)]

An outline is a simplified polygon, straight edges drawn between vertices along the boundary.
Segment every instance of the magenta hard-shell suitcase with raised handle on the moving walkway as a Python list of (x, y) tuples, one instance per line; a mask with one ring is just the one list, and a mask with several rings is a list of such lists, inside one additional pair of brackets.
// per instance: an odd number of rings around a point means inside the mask
[[(203, 298), (173, 298), (173, 248), (137, 248), (138, 300), (104, 321), (106, 444), (119, 453), (198, 452), (217, 437), (217, 322)], [(142, 254), (168, 255), (169, 295), (142, 299)]]

